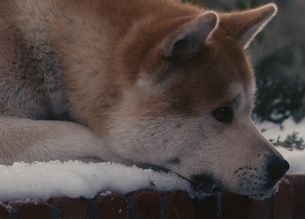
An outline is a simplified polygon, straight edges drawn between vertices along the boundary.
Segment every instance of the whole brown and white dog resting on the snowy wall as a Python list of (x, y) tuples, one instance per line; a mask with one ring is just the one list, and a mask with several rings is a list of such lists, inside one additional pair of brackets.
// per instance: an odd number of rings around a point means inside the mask
[(245, 49), (276, 14), (175, 0), (2, 0), (0, 163), (157, 166), (207, 192), (289, 168), (250, 119)]

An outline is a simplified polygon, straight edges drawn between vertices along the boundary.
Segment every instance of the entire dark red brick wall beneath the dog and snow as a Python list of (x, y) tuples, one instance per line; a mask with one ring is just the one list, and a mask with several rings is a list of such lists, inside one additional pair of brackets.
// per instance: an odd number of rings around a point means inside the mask
[(125, 196), (102, 193), (94, 199), (10, 201), (0, 205), (0, 218), (305, 219), (305, 176), (286, 177), (279, 191), (265, 200), (230, 193), (203, 200), (192, 200), (181, 191), (137, 191)]

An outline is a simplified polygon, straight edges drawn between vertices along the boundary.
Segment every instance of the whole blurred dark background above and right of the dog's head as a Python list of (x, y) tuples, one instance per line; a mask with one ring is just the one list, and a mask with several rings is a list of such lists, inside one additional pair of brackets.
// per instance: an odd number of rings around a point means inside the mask
[[(220, 11), (247, 9), (267, 0), (190, 0)], [(305, 118), (305, 1), (275, 0), (279, 13), (251, 45), (257, 77), (258, 122)]]

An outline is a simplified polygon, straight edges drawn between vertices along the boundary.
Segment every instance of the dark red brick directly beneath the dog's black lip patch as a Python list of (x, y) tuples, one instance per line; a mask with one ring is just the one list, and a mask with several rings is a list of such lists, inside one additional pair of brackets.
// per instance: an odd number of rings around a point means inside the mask
[(194, 201), (195, 219), (218, 219), (218, 203), (216, 196), (207, 196)]

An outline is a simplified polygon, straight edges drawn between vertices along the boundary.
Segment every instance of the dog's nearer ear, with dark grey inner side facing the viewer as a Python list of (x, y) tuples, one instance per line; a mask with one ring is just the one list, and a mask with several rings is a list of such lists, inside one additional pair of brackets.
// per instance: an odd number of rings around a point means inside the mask
[(218, 23), (218, 14), (209, 11), (182, 25), (163, 43), (161, 50), (163, 57), (188, 59), (196, 55), (203, 43), (213, 34)]

